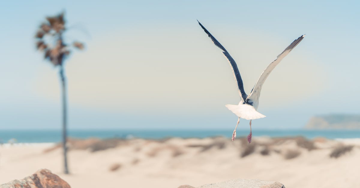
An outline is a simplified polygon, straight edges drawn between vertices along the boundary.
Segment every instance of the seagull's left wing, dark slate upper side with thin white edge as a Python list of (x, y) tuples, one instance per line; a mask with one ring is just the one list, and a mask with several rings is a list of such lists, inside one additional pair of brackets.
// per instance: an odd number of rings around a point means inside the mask
[[(199, 22), (199, 21), (198, 21)], [(210, 37), (210, 39), (212, 40), (212, 42), (217, 46), (219, 47), (221, 50), (222, 50), (222, 53), (225, 55), (225, 57), (229, 60), (230, 62), (230, 65), (231, 65), (231, 68), (233, 70), (233, 73), (234, 73), (234, 76), (235, 76), (235, 79), (238, 83), (238, 88), (239, 88), (239, 93), (240, 93), (240, 96), (242, 98), (242, 101), (245, 101), (245, 99), (247, 98), (247, 94), (245, 93), (244, 91), (244, 85), (243, 85), (243, 80), (241, 79), (241, 76), (240, 76), (240, 72), (239, 72), (239, 69), (238, 69), (238, 66), (237, 64), (235, 63), (234, 59), (230, 56), (230, 54), (228, 53), (228, 51), (226, 51), (226, 49), (224, 48), (224, 46), (222, 46), (220, 44), (219, 41), (217, 41), (215, 39), (215, 37), (213, 37), (211, 35), (211, 33), (209, 31), (206, 30), (206, 28), (199, 22), (199, 25), (203, 28), (203, 30), (206, 32), (206, 34)]]

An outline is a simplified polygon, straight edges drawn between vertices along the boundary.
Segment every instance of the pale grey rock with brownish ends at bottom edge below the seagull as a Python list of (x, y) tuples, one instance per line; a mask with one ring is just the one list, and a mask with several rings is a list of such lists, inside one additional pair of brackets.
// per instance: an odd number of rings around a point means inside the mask
[[(181, 185), (190, 186), (190, 185)], [(193, 188), (190, 187), (179, 187), (179, 188)], [(257, 179), (232, 179), (220, 183), (211, 183), (201, 185), (198, 188), (215, 188), (215, 187), (226, 187), (226, 188), (285, 188), (285, 185), (279, 182), (257, 180)]]

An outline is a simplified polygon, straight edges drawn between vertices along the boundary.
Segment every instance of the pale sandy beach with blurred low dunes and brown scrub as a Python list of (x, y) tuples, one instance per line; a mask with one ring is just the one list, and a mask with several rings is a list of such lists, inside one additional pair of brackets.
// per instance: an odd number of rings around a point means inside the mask
[[(46, 168), (72, 187), (196, 187), (238, 178), (278, 181), (292, 188), (360, 187), (360, 142), (345, 141), (265, 137), (255, 137), (251, 144), (221, 137), (73, 140), (70, 175), (62, 173), (62, 150), (55, 144), (7, 144), (0, 146), (0, 184)], [(346, 146), (352, 146), (350, 151), (330, 157), (334, 148)]]

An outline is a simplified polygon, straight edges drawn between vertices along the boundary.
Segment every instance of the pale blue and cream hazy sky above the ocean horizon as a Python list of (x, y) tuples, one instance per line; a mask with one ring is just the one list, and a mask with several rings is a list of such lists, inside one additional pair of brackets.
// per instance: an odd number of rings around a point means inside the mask
[[(267, 78), (253, 129), (298, 129), (315, 115), (360, 113), (359, 1), (2, 1), (0, 129), (59, 129), (58, 69), (35, 49), (46, 16), (65, 11), (70, 129), (233, 129), (225, 104)], [(240, 121), (240, 129), (248, 121)]]

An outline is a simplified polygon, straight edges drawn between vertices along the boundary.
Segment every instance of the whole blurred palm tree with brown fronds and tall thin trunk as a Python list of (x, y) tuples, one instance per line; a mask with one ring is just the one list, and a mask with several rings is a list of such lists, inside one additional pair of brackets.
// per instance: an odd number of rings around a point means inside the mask
[(66, 76), (64, 75), (64, 59), (69, 56), (71, 47), (84, 49), (84, 44), (74, 41), (72, 45), (64, 43), (63, 34), (65, 27), (64, 13), (53, 17), (46, 17), (36, 32), (36, 48), (44, 53), (44, 58), (59, 67), (59, 76), (62, 89), (62, 145), (64, 154), (64, 173), (69, 174), (67, 164), (67, 100), (66, 100)]

